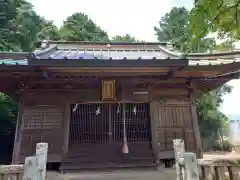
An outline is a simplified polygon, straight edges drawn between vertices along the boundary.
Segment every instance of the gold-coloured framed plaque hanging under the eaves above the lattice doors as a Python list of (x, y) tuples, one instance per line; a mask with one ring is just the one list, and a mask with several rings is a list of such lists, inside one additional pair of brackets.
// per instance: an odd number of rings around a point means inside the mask
[(115, 80), (102, 81), (102, 100), (115, 100)]

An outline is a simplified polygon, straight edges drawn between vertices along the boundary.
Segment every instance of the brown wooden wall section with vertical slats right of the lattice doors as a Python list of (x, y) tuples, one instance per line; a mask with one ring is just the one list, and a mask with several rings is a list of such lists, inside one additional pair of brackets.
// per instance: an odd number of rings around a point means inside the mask
[(174, 139), (184, 139), (186, 149), (194, 150), (190, 101), (173, 98), (164, 101), (151, 100), (152, 131), (154, 131), (152, 143), (155, 154), (161, 158), (173, 158), (173, 153), (166, 152), (173, 152)]

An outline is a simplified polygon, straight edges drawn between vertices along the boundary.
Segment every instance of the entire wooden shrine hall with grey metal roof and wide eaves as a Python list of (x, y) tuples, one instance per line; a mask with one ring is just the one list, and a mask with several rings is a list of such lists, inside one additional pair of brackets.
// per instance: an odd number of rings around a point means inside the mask
[(240, 52), (181, 54), (167, 43), (44, 41), (0, 53), (0, 91), (19, 103), (13, 162), (38, 142), (62, 171), (150, 167), (173, 139), (202, 156), (196, 99), (238, 78)]

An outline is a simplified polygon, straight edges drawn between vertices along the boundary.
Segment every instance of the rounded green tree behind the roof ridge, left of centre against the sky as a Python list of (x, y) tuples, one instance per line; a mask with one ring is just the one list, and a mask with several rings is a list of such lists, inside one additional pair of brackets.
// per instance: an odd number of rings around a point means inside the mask
[(75, 13), (60, 28), (61, 38), (67, 41), (108, 41), (108, 35), (87, 15)]

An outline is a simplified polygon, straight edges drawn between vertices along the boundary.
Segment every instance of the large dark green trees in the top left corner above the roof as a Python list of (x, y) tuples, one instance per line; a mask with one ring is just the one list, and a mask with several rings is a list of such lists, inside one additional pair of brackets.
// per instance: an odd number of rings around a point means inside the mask
[(43, 39), (59, 40), (58, 29), (25, 0), (6, 1), (0, 8), (0, 50), (31, 51)]

